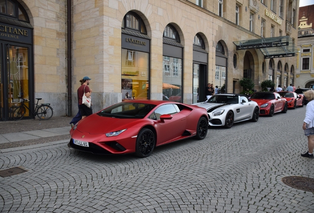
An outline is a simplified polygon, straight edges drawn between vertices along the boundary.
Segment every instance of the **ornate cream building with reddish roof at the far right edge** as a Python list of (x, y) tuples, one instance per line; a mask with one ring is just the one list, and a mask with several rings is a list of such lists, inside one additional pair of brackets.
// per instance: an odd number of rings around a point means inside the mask
[(300, 7), (296, 85), (309, 88), (314, 83), (314, 4)]

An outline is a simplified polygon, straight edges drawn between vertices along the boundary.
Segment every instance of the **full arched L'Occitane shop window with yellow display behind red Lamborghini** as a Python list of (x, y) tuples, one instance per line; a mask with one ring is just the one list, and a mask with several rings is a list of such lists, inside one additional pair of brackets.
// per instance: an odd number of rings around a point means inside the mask
[(147, 35), (144, 21), (138, 14), (126, 13), (121, 24), (121, 38), (122, 101), (150, 99), (151, 38)]

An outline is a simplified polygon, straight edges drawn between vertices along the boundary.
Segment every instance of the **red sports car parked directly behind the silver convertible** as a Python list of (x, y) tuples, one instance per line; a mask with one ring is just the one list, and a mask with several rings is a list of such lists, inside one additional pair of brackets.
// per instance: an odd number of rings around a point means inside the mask
[(260, 115), (273, 116), (276, 112), (286, 113), (288, 110), (287, 101), (276, 92), (256, 92), (250, 99), (260, 106)]

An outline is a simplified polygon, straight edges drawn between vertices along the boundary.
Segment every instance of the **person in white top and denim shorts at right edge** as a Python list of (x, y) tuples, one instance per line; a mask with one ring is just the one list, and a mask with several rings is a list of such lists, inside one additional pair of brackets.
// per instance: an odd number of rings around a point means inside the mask
[(308, 90), (304, 92), (304, 96), (308, 99), (309, 103), (307, 104), (305, 119), (303, 123), (304, 135), (308, 137), (308, 148), (304, 154), (301, 154), (302, 157), (314, 158), (313, 149), (314, 149), (314, 90)]

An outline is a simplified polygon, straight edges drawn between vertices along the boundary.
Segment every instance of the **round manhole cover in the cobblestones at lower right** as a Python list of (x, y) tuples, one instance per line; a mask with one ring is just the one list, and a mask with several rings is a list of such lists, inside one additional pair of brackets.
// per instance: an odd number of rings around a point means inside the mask
[(304, 191), (314, 192), (314, 179), (298, 176), (285, 177), (282, 182), (292, 188), (301, 189)]

